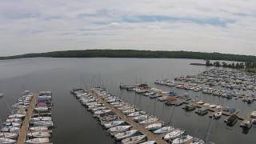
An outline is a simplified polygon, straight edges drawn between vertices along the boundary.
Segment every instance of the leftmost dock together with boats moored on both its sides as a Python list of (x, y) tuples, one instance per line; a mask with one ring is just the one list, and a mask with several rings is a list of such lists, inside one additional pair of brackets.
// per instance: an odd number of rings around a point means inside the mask
[[(8, 119), (2, 123), (0, 143), (51, 143), (49, 138), (52, 130), (48, 130), (48, 127), (52, 126), (45, 125), (46, 122), (51, 121), (51, 118), (42, 117), (37, 112), (40, 106), (47, 106), (46, 101), (50, 102), (51, 98), (43, 98), (44, 101), (42, 102), (42, 97), (46, 95), (51, 97), (50, 92), (43, 91), (32, 93), (25, 90), (22, 93), (18, 102), (11, 106), (11, 114)], [(38, 117), (35, 117), (35, 113), (38, 114)], [(41, 123), (41, 125), (38, 126), (38, 123)]]

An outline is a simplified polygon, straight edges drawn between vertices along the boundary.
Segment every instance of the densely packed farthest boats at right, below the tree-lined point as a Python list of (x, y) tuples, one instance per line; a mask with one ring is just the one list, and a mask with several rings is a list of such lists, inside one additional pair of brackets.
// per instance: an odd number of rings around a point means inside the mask
[(198, 75), (174, 78), (176, 81), (205, 84), (208, 86), (222, 86), (230, 90), (256, 90), (256, 75), (242, 70), (211, 69)]

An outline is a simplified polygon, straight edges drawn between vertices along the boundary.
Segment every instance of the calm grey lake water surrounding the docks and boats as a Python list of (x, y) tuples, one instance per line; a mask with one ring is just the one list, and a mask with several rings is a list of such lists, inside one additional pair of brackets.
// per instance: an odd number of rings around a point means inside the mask
[[(208, 115), (198, 116), (192, 112), (185, 112), (180, 107), (169, 107), (154, 99), (134, 95), (126, 90), (119, 90), (120, 82), (133, 84), (147, 82), (163, 90), (176, 90), (166, 86), (154, 85), (154, 79), (174, 78), (187, 74), (198, 74), (207, 70), (206, 66), (191, 66), (190, 62), (203, 62), (190, 59), (148, 59), (148, 58), (25, 58), (0, 61), (0, 90), (5, 97), (0, 99), (0, 118), (6, 119), (7, 105), (14, 104), (22, 90), (51, 90), (54, 94), (52, 115), (55, 125), (53, 142), (59, 144), (70, 143), (114, 143), (114, 139), (102, 130), (102, 126), (87, 112), (80, 103), (70, 95), (73, 87), (97, 86), (102, 84), (107, 90), (121, 95), (126, 102), (136, 103), (142, 110), (155, 114), (168, 122), (170, 114), (174, 114), (172, 122), (175, 127), (188, 131), (199, 138), (206, 136), (206, 129), (210, 123)], [(177, 90), (183, 94), (186, 90)], [(218, 97), (203, 95), (188, 91), (191, 96), (198, 95), (207, 102), (222, 102), (235, 106), (243, 115), (248, 115), (255, 108), (255, 102), (247, 105), (242, 101), (219, 99)], [(155, 109), (154, 109), (155, 105)], [(239, 127), (240, 121), (233, 126), (226, 126), (223, 117), (213, 122), (210, 141), (215, 143), (253, 144), (256, 127), (249, 132), (243, 132)]]

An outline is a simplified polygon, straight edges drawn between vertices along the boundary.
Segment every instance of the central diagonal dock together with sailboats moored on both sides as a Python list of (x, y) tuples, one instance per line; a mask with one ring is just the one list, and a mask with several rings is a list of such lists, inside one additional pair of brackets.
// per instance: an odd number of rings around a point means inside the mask
[[(135, 118), (139, 116), (145, 115), (145, 112), (138, 110), (136, 106), (133, 106), (129, 103), (122, 102), (121, 99), (115, 97), (107, 93), (102, 88), (94, 88), (89, 92), (82, 89), (74, 89), (71, 90), (71, 94), (74, 94), (82, 105), (87, 106), (90, 110), (93, 110), (94, 117), (100, 120), (100, 123), (106, 128), (109, 129), (110, 134), (114, 135), (115, 139), (122, 140), (122, 143), (142, 143), (146, 140), (151, 143), (159, 143), (159, 144), (167, 144), (167, 142), (175, 143), (179, 141), (176, 138), (182, 138), (184, 142), (182, 143), (204, 143), (202, 140), (198, 138), (193, 138), (190, 135), (183, 135), (182, 133), (177, 134), (177, 136), (169, 136), (170, 138), (164, 138), (166, 135), (170, 135), (174, 133), (173, 131), (181, 131), (180, 129), (174, 129), (172, 126), (164, 125), (164, 122), (161, 122), (158, 118), (154, 116), (147, 115), (142, 120), (135, 122)], [(95, 107), (95, 108), (93, 108)], [(100, 108), (100, 109), (97, 109)], [(129, 113), (125, 113), (129, 110)], [(97, 113), (100, 112), (100, 113)], [(138, 115), (134, 115), (138, 114)], [(130, 115), (130, 116), (129, 116)], [(103, 119), (109, 120), (103, 120)], [(120, 118), (118, 121), (117, 119)], [(142, 135), (132, 137), (134, 133), (133, 131), (129, 131), (130, 129), (126, 129), (129, 136), (124, 138), (119, 138), (119, 135), (126, 134), (125, 131), (118, 130), (118, 127), (123, 126), (122, 124), (126, 122), (128, 126), (132, 127), (132, 130), (139, 131)], [(111, 129), (117, 129), (118, 132), (111, 132)], [(153, 133), (154, 131), (154, 133)], [(121, 133), (120, 133), (121, 132)], [(131, 133), (131, 134), (130, 134)], [(169, 134), (170, 133), (170, 134)], [(118, 137), (118, 138), (117, 138)], [(129, 142), (133, 141), (133, 138), (142, 137), (142, 140), (139, 142)], [(145, 139), (144, 139), (145, 137)], [(184, 138), (190, 137), (188, 140)], [(130, 139), (129, 139), (130, 138)]]

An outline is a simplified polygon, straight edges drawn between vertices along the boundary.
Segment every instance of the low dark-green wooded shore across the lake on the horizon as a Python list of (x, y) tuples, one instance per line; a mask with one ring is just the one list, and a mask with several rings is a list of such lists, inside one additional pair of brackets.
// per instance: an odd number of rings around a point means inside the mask
[[(151, 50), (66, 50), (47, 53), (21, 54), (0, 57), (0, 60), (16, 58), (190, 58), (224, 60), (235, 62), (256, 62), (256, 56), (240, 54), (204, 53), (193, 51), (151, 51)], [(201, 64), (200, 64), (201, 65)]]

